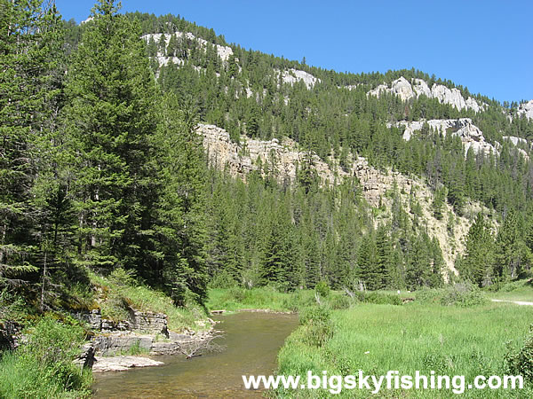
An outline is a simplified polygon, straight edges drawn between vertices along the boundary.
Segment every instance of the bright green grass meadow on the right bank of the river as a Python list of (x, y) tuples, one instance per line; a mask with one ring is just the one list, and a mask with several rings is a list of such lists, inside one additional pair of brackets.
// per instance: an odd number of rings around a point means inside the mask
[[(318, 319), (319, 317), (317, 317)], [(323, 317), (322, 317), (323, 318)], [(330, 331), (324, 340), (316, 325), (303, 323), (286, 340), (278, 356), (278, 373), (301, 375), (385, 375), (389, 370), (414, 375), (416, 371), (441, 375), (509, 374), (506, 342), (520, 346), (533, 320), (533, 309), (486, 303), (473, 307), (410, 303), (402, 306), (358, 303), (350, 309), (330, 311)], [(320, 331), (318, 331), (320, 332)], [(282, 390), (279, 396), (324, 397), (326, 391)], [(340, 397), (367, 397), (368, 391), (349, 390)], [(503, 390), (469, 391), (465, 397), (532, 397)], [(451, 391), (381, 391), (379, 397), (455, 397)]]

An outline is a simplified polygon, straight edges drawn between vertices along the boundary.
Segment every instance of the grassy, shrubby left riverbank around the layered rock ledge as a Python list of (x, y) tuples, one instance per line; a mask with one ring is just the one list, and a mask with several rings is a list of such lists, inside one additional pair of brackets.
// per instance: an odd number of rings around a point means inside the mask
[[(0, 351), (0, 398), (91, 395), (91, 371), (74, 363), (91, 332), (89, 325), (71, 315), (100, 309), (103, 318), (120, 321), (128, 319), (132, 308), (166, 314), (169, 329), (175, 332), (207, 328), (195, 323), (206, 319), (203, 307), (194, 301), (176, 307), (169, 296), (121, 269), (106, 277), (86, 270), (84, 284), (64, 287), (49, 307), (42, 314), (36, 301), (0, 292), (0, 325), (17, 322), (25, 327), (27, 337), (20, 348)], [(142, 355), (143, 351), (134, 346), (126, 353)]]

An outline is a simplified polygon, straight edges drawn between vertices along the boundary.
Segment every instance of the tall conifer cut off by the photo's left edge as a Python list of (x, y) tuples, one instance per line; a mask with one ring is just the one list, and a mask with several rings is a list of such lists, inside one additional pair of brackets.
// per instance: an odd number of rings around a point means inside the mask
[[(39, 146), (50, 134), (60, 18), (42, 1), (3, 1), (0, 12), (0, 286), (41, 264), (36, 221)], [(40, 199), (37, 199), (37, 201)]]

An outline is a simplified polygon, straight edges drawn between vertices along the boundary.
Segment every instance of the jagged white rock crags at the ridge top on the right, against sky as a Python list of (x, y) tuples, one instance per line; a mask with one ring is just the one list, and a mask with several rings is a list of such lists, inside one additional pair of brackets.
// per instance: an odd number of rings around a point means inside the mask
[(459, 111), (462, 109), (472, 109), (478, 113), (483, 111), (485, 105), (479, 105), (474, 98), (465, 98), (458, 89), (449, 89), (442, 84), (434, 83), (431, 90), (426, 81), (422, 79), (413, 79), (409, 82), (403, 76), (396, 79), (388, 87), (386, 84), (380, 84), (376, 89), (370, 90), (367, 95), (379, 97), (381, 93), (389, 93), (402, 98), (402, 101), (408, 101), (411, 98), (418, 98), (425, 95), (427, 98), (437, 98), (442, 104), (455, 106)]

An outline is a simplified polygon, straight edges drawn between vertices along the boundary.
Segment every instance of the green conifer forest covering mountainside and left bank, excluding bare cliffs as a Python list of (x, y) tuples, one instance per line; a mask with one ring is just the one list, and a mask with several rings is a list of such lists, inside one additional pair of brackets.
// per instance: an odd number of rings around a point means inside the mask
[[(109, 1), (81, 25), (42, 10), (4, 2), (1, 21), (0, 286), (36, 309), (62, 306), (70, 287), (86, 284), (86, 270), (130, 270), (179, 305), (205, 301), (208, 285), (416, 289), (529, 272), (533, 168), (503, 138), (533, 138), (519, 104), (414, 69), (307, 66), (228, 44), (179, 16), (123, 15)], [(282, 71), (310, 74), (314, 84), (287, 82)], [(483, 110), (368, 95), (401, 76), (455, 88)], [(394, 124), (457, 118), (471, 118), (498, 153), (465, 153), (458, 137), (427, 127), (404, 140)], [(447, 203), (450, 230), (454, 216), (473, 223), (458, 275), (446, 270), (417, 201), (405, 207), (394, 186), (393, 207), (372, 207), (356, 178), (321, 184), (311, 157), (296, 181), (280, 184), (264, 165), (243, 182), (209, 167), (199, 121), (235, 143), (289, 137), (343, 168), (360, 156), (420, 179), (434, 193), (431, 217), (442, 219)], [(390, 217), (378, 220), (380, 212)]]

